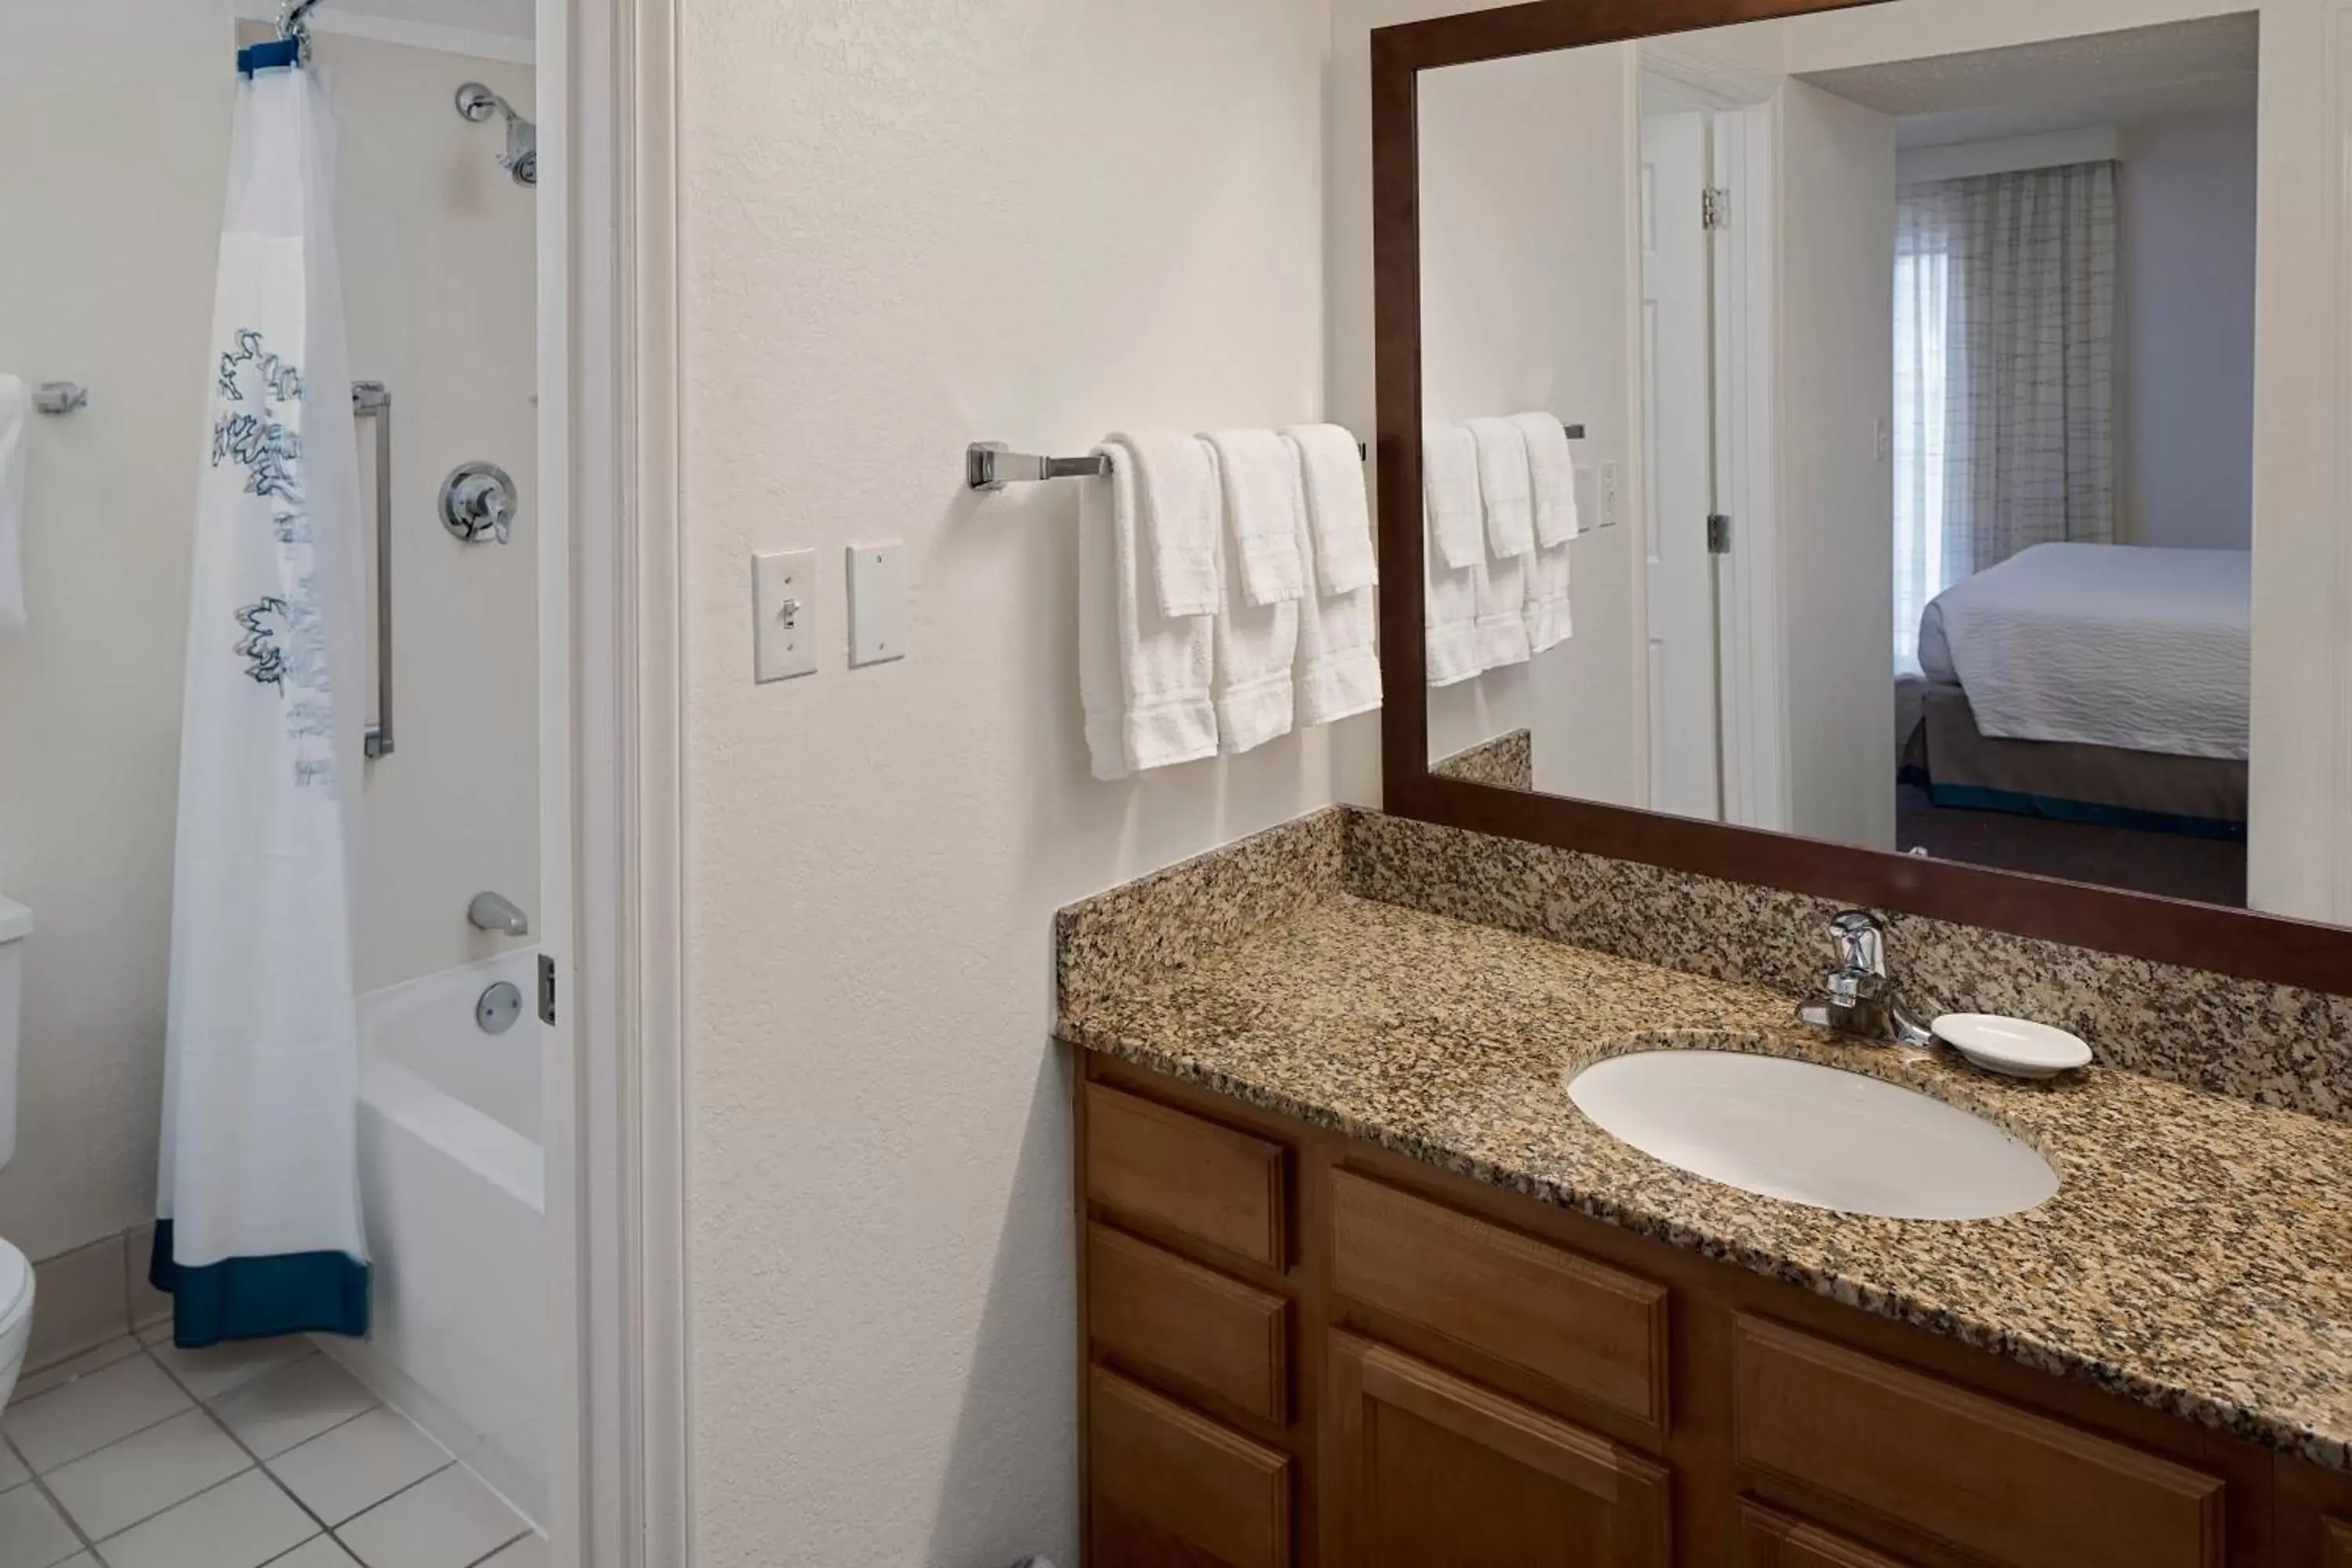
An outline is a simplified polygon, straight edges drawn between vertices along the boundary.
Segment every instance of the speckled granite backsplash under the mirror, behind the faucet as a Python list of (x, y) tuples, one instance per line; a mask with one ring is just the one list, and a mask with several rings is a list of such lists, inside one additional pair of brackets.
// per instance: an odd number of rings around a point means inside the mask
[[(1348, 889), (1792, 997), (1820, 983), (1825, 929), (1842, 907), (1378, 811), (1348, 818)], [(1896, 992), (1917, 1018), (2039, 1018), (2114, 1067), (2352, 1119), (2352, 997), (1917, 914), (1886, 926)]]

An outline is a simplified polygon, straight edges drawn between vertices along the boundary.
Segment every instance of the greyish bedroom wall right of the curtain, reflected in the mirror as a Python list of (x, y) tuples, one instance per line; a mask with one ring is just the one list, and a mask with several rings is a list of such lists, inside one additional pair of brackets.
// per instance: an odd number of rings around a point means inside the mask
[(2122, 522), (2140, 545), (2253, 543), (2256, 115), (2126, 127)]

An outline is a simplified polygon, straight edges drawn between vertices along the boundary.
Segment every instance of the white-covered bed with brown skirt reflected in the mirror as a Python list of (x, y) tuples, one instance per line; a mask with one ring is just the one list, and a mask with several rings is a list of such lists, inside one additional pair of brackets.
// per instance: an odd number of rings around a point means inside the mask
[(2249, 550), (2030, 545), (1896, 677), (1905, 849), (2246, 903)]

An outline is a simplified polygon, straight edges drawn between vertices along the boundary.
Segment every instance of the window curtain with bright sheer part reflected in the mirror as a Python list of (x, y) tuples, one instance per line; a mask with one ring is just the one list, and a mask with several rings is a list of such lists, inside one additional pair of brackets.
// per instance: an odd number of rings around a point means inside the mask
[(2114, 162), (1896, 195), (1896, 668), (1929, 599), (2114, 541)]

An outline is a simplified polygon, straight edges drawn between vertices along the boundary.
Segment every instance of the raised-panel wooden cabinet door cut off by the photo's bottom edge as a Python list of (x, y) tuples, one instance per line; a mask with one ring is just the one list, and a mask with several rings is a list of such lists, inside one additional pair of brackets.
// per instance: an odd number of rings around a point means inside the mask
[(1668, 1568), (1665, 1467), (1404, 1352), (1331, 1338), (1338, 1568)]

